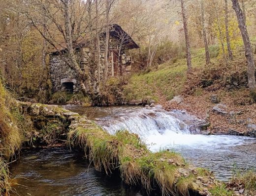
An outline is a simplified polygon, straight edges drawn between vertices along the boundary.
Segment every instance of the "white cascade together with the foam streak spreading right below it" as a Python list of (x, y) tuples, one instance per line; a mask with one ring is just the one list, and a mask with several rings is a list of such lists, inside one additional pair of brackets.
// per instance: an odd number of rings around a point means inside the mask
[(119, 130), (138, 134), (152, 151), (180, 146), (222, 148), (255, 141), (242, 136), (200, 135), (198, 128), (203, 123), (201, 120), (183, 111), (167, 112), (160, 108), (115, 108), (96, 122), (110, 134)]

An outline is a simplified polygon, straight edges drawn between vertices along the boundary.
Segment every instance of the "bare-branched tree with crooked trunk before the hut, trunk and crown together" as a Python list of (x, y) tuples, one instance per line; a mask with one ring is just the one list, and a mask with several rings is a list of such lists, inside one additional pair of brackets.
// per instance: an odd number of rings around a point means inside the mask
[[(30, 9), (24, 6), (21, 13), (25, 14), (30, 20), (30, 25), (34, 26), (42, 37), (55, 49), (63, 47), (63, 41), (67, 50), (68, 66), (75, 70), (78, 74), (78, 82), (81, 85), (82, 92), (84, 95), (92, 95), (92, 90), (90, 89), (91, 81), (88, 79), (88, 73), (85, 73), (80, 68), (79, 64), (75, 58), (75, 51), (73, 49), (73, 43), (81, 38), (83, 34), (85, 9), (80, 12), (79, 16), (75, 11), (76, 6), (84, 7), (85, 4), (80, 3), (76, 0), (27, 0), (28, 4), (31, 6)], [(35, 12), (35, 10), (44, 10), (43, 12)], [(45, 18), (50, 22), (50, 24), (45, 24)], [(44, 28), (47, 25), (46, 28)], [(42, 28), (43, 26), (43, 28)], [(56, 31), (53, 27), (58, 30), (62, 35), (62, 39), (56, 37)]]

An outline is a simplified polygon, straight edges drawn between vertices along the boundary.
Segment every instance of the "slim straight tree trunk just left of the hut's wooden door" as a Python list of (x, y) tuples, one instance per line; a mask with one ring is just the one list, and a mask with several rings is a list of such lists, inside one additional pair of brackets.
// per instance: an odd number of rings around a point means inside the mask
[(106, 0), (106, 40), (105, 40), (105, 70), (104, 70), (104, 81), (107, 80), (108, 75), (108, 41), (109, 41), (109, 0)]

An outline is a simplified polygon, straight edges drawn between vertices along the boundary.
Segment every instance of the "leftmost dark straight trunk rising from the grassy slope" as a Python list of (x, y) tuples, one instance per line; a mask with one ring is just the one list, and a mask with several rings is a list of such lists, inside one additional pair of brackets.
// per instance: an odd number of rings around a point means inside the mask
[(188, 31), (188, 22), (185, 10), (184, 0), (181, 0), (181, 11), (182, 11), (182, 18), (183, 18), (183, 25), (184, 25), (184, 33), (185, 33), (185, 41), (186, 41), (186, 55), (187, 55), (187, 65), (188, 65), (188, 72), (192, 70), (192, 60), (191, 60), (191, 50), (190, 50), (190, 38), (189, 38), (189, 31)]

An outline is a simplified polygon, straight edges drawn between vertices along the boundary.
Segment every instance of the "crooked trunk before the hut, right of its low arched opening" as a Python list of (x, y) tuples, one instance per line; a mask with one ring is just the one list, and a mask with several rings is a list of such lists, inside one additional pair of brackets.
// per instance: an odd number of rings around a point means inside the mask
[(84, 73), (80, 66), (78, 65), (74, 49), (73, 49), (73, 43), (72, 43), (72, 29), (71, 29), (71, 18), (70, 18), (70, 8), (69, 8), (69, 0), (62, 0), (64, 4), (64, 23), (65, 23), (65, 42), (67, 46), (67, 54), (68, 54), (68, 66), (75, 70), (78, 74), (78, 79), (82, 88), (82, 92), (84, 95), (90, 94), (90, 88), (88, 85), (88, 75)]

